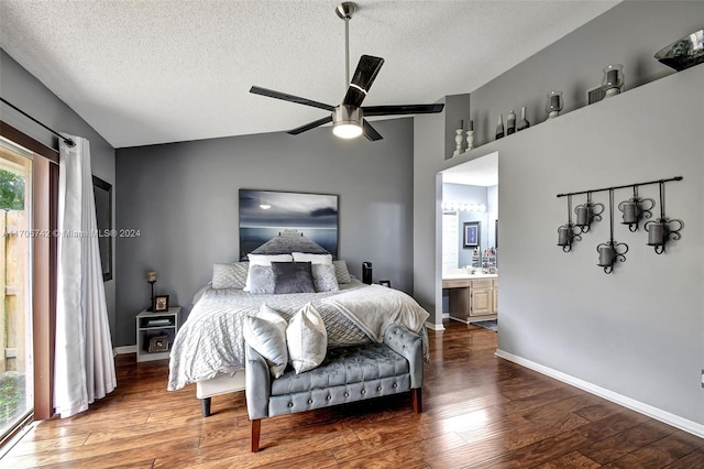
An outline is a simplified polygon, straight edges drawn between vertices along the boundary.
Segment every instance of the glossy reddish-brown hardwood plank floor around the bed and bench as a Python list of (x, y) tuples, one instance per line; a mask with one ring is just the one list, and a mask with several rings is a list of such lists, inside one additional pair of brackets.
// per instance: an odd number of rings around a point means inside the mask
[[(42, 422), (1, 467), (704, 468), (704, 439), (494, 356), (496, 334), (429, 331), (424, 413), (410, 394), (262, 421), (250, 452), (243, 393), (200, 416), (194, 386), (167, 392), (166, 361), (118, 357), (118, 389)], [(7, 465), (7, 466), (6, 466)]]

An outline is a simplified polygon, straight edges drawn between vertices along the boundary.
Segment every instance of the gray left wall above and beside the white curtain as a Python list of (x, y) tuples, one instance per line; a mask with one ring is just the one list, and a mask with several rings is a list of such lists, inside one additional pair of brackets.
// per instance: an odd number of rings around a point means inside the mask
[[(68, 132), (73, 135), (88, 139), (90, 141), (92, 174), (113, 185), (114, 204), (114, 149), (73, 109), (66, 106), (64, 101), (58, 99), (56, 95), (2, 50), (0, 50), (0, 95), (45, 126), (58, 132)], [(54, 134), (8, 106), (0, 105), (0, 109), (2, 110), (1, 118), (4, 122), (21, 130), (37, 142), (58, 149), (58, 139)], [(112, 280), (105, 283), (108, 320), (113, 342), (116, 337), (116, 282), (117, 275), (113, 269)]]

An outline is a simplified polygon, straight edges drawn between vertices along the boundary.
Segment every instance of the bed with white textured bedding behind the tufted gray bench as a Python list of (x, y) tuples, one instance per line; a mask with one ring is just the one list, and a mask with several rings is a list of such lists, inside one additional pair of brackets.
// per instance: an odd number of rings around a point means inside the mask
[[(218, 281), (218, 269), (229, 270), (228, 281)], [(349, 275), (344, 261), (328, 268), (334, 272), (337, 285), (319, 285), (316, 277), (315, 293), (257, 293), (261, 290), (256, 285), (248, 288), (244, 280), (257, 269), (246, 262), (216, 264), (213, 282), (196, 295), (194, 308), (174, 340), (167, 389), (196, 383), (205, 416), (210, 414), (211, 396), (244, 389), (242, 319), (256, 314), (262, 305), (288, 320), (310, 303), (323, 319), (328, 348), (381, 342), (386, 327), (398, 324), (424, 337), (427, 358), (424, 324), (429, 314), (400, 291), (366, 285)]]

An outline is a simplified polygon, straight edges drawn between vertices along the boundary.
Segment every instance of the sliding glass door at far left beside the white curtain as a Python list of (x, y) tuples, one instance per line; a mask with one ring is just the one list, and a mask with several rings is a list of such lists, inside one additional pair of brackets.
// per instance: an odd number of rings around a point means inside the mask
[(32, 153), (0, 139), (0, 440), (33, 412)]

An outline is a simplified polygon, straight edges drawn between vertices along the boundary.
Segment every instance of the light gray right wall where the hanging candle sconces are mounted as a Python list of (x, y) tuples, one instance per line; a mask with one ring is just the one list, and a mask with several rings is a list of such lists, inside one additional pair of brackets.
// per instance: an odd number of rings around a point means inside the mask
[[(506, 139), (499, 148), (499, 349), (704, 424), (704, 67), (651, 83)], [(653, 138), (654, 135), (654, 138)], [(530, 175), (530, 177), (526, 177)], [(682, 175), (667, 215), (682, 239), (657, 255), (642, 229), (618, 225), (626, 262), (604, 274), (596, 246), (557, 243), (565, 192)], [(640, 188), (658, 198), (658, 186)], [(616, 193), (615, 205), (632, 195)], [(594, 195), (606, 203), (607, 193)]]

